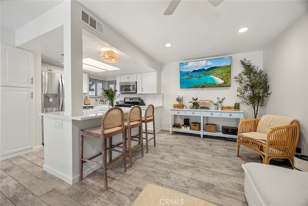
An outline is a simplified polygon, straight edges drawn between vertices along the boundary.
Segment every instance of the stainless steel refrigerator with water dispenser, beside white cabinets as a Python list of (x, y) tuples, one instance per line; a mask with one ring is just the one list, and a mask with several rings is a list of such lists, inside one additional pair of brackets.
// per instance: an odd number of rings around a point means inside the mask
[[(64, 111), (64, 75), (42, 71), (42, 112)], [(44, 127), (42, 116), (42, 143)]]

